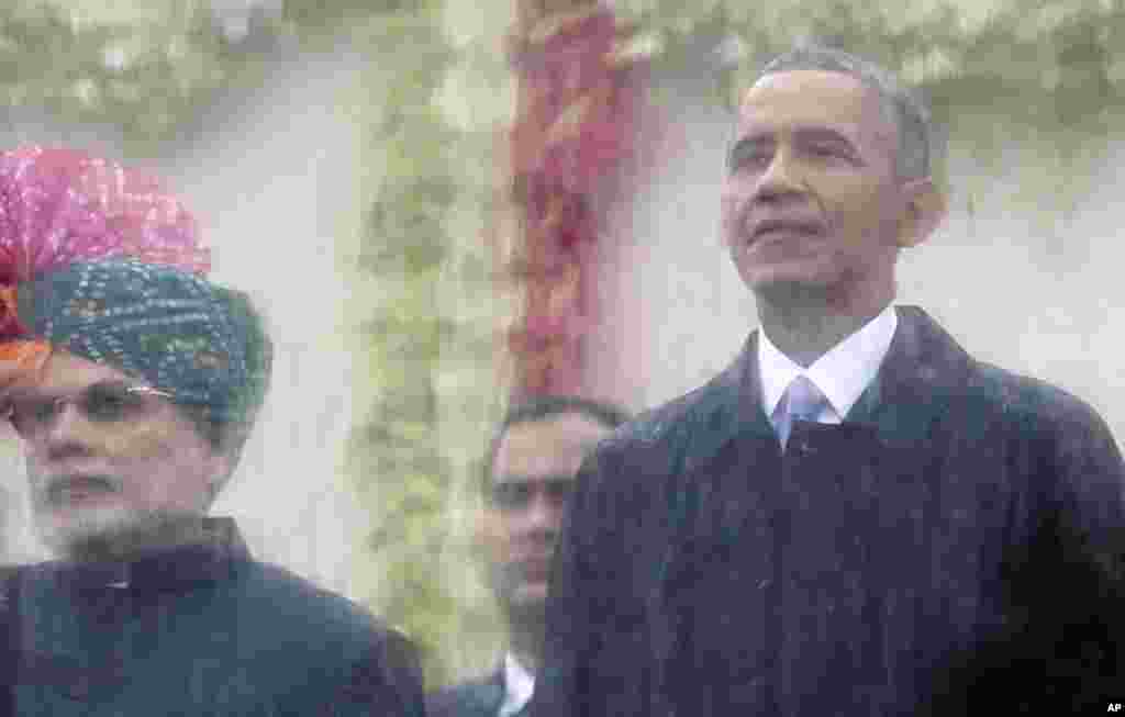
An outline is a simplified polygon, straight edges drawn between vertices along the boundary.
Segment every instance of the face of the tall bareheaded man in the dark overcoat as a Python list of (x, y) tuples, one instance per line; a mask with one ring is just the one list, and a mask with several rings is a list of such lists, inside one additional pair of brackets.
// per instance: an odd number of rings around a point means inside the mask
[(893, 282), (904, 202), (897, 133), (873, 90), (822, 71), (768, 74), (746, 94), (722, 191), (742, 281), (848, 289)]

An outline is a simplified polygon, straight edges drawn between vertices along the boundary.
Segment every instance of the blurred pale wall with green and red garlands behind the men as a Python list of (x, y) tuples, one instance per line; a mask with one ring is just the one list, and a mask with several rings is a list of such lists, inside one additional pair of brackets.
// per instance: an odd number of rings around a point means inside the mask
[[(755, 326), (718, 237), (731, 108), (818, 38), (942, 126), (951, 216), (900, 299), (1125, 432), (1122, 0), (8, 0), (2, 146), (144, 166), (249, 291), (273, 388), (216, 506), (440, 683), (493, 665), (475, 487), (512, 397), (642, 410)], [(8, 562), (42, 551), (17, 446)]]

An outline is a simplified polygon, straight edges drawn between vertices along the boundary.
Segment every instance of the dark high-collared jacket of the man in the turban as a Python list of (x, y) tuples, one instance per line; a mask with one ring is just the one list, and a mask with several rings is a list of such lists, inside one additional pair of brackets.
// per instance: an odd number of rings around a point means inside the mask
[(231, 539), (20, 569), (16, 714), (421, 717), (404, 637), (215, 525)]

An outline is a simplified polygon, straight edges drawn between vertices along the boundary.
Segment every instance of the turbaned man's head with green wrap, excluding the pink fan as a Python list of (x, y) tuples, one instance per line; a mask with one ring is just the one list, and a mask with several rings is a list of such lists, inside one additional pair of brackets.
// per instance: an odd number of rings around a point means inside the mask
[[(4, 405), (44, 542), (83, 560), (180, 539), (234, 470), (266, 396), (271, 344), (249, 299), (120, 258), (70, 264), (17, 296), (21, 324), (53, 347)], [(104, 430), (87, 435), (79, 417)]]

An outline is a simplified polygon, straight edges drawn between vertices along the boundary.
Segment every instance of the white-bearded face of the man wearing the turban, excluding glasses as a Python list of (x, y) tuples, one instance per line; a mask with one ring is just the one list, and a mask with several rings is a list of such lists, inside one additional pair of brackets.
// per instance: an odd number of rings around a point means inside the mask
[[(57, 352), (42, 381), (16, 387), (24, 398), (74, 397), (94, 384), (138, 381), (107, 365)], [(91, 420), (64, 403), (43, 430), (22, 437), (36, 527), (66, 554), (84, 539), (206, 510), (224, 459), (195, 425), (156, 396), (116, 420)]]

